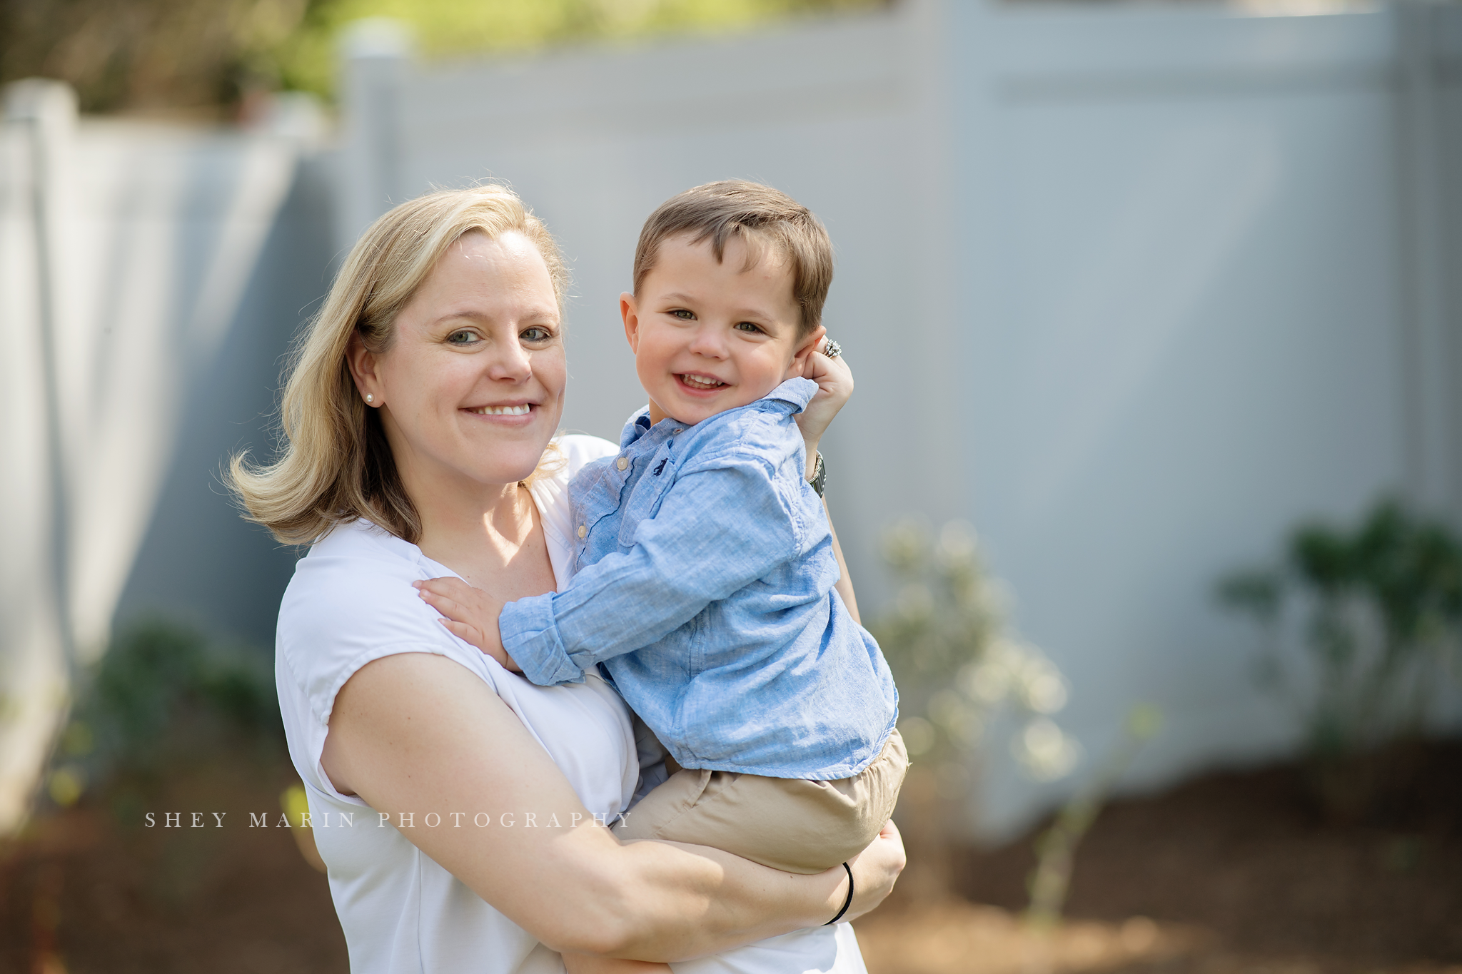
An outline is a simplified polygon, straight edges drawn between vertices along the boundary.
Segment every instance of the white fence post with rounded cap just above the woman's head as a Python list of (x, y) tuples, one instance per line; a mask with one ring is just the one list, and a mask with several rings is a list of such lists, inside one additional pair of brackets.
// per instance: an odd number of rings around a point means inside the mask
[(408, 28), (387, 18), (357, 20), (341, 37), (344, 112), (338, 245), (346, 250), (405, 196), (401, 86), (411, 57)]

